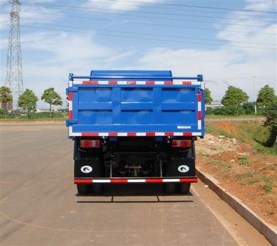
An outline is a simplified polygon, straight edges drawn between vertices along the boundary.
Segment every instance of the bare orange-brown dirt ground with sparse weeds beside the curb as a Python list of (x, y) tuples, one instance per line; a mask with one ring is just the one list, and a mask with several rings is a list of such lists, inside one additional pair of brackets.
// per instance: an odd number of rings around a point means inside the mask
[[(220, 123), (232, 134), (229, 123)], [(228, 124), (228, 125), (225, 125)], [(277, 226), (277, 156), (256, 152), (247, 143), (213, 134), (197, 141), (197, 166), (212, 175), (265, 221)]]

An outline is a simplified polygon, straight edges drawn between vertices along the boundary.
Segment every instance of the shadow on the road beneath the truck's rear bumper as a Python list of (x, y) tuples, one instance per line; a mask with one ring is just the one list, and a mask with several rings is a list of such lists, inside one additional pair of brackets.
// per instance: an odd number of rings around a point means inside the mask
[[(110, 200), (78, 200), (78, 203), (152, 203), (152, 202), (194, 202), (184, 200), (184, 197), (193, 196), (192, 193), (164, 193), (162, 184), (112, 184), (105, 185), (101, 194), (76, 194), (77, 197), (110, 197)], [(117, 200), (118, 197), (125, 197), (124, 200)], [(129, 197), (130, 200), (127, 198)], [(132, 200), (134, 197), (143, 197), (143, 200)], [(151, 200), (145, 199), (151, 197)], [(183, 199), (181, 199), (183, 197)], [(116, 200), (115, 200), (116, 199)], [(138, 198), (136, 198), (138, 199)]]

